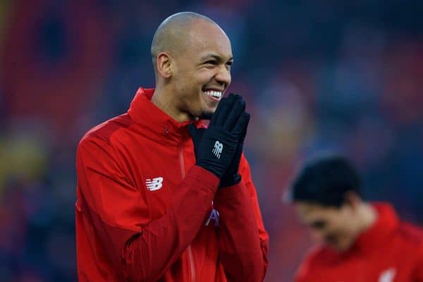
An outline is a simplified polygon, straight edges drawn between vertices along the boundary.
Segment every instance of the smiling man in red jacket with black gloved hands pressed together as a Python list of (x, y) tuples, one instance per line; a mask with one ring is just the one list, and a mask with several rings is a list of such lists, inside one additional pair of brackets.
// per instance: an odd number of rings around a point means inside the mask
[(152, 59), (156, 88), (78, 146), (79, 281), (262, 281), (268, 235), (242, 154), (250, 115), (240, 95), (223, 98), (231, 43), (209, 18), (177, 13)]

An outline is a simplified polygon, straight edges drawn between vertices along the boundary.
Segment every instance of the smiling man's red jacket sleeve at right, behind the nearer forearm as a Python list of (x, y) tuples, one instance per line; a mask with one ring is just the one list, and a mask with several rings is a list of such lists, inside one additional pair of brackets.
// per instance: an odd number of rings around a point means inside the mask
[(219, 259), (228, 281), (263, 281), (269, 235), (244, 156), (240, 175), (240, 183), (219, 189), (214, 197), (214, 207), (219, 212)]

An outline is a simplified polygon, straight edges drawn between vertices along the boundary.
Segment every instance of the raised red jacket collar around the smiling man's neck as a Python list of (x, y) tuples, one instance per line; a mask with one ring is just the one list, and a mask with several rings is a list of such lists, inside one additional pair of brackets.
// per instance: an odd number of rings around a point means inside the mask
[(149, 139), (166, 142), (168, 145), (178, 145), (189, 136), (187, 126), (195, 123), (197, 126), (202, 121), (185, 121), (179, 123), (164, 111), (161, 111), (151, 102), (154, 89), (140, 87), (130, 103), (129, 116), (141, 125), (142, 131), (147, 133)]

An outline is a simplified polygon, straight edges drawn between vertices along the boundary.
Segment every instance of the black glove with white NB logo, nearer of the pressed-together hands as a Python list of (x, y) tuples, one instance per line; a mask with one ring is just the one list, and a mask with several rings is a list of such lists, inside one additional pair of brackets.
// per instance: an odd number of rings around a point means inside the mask
[(229, 94), (219, 102), (207, 129), (189, 125), (197, 159), (195, 164), (222, 178), (233, 161), (248, 120), (243, 98)]

